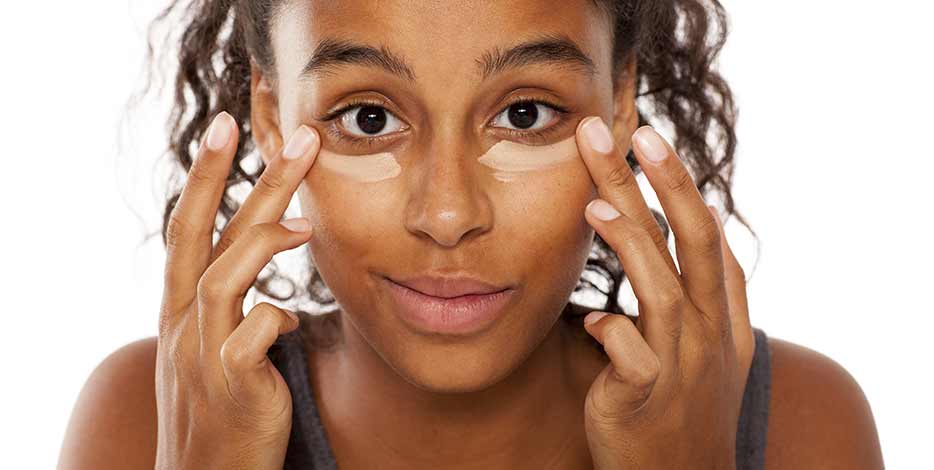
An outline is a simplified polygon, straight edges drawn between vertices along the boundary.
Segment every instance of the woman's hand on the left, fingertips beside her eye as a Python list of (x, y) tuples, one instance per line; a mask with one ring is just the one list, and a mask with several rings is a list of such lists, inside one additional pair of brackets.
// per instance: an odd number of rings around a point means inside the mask
[(311, 236), (307, 219), (278, 221), (320, 139), (299, 127), (213, 246), (238, 139), (234, 119), (218, 114), (167, 226), (155, 378), (159, 470), (281, 470), (285, 460), (292, 399), (266, 353), (298, 318), (265, 302), (244, 317), (243, 299), (275, 253)]

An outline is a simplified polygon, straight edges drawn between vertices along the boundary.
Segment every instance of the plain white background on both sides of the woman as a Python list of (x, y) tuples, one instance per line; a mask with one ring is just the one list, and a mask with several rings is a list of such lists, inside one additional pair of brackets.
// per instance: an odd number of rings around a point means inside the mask
[[(724, 4), (720, 64), (740, 108), (734, 195), (762, 242), (753, 324), (842, 364), (872, 405), (887, 467), (923, 466), (934, 9)], [(153, 11), (9, 2), (0, 15), (4, 468), (53, 467), (88, 374), (156, 333), (163, 251), (158, 235), (141, 242), (161, 217), (164, 107), (120, 125)], [(735, 220), (727, 230), (750, 273), (748, 232)]]

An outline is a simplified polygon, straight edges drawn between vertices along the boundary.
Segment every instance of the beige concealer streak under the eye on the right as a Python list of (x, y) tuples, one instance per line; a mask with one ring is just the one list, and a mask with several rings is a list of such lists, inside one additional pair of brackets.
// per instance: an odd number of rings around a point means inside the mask
[(544, 170), (573, 160), (577, 155), (574, 136), (551, 145), (524, 145), (501, 140), (477, 161), (492, 168), (493, 177), (505, 182), (525, 172)]

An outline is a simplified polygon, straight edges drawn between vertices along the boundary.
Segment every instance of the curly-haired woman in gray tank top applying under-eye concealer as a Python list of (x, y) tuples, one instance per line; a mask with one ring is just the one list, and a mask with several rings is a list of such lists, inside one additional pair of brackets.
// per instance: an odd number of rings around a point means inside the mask
[[(702, 197), (735, 213), (719, 4), (192, 8), (159, 336), (93, 373), (63, 468), (881, 468), (850, 375), (751, 326)], [(644, 125), (663, 119), (674, 145)], [(306, 243), (336, 308), (244, 318)], [(596, 313), (569, 301), (585, 268), (610, 286)]]

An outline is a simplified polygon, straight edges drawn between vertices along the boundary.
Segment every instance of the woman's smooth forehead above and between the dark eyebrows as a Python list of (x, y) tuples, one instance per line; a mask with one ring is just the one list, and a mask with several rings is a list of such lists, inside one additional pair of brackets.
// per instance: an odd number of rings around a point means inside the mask
[(418, 82), (480, 80), (491, 52), (542, 37), (566, 38), (596, 73), (608, 73), (609, 35), (609, 19), (593, 0), (293, 0), (271, 32), (277, 75), (288, 82), (328, 41), (390, 52)]

